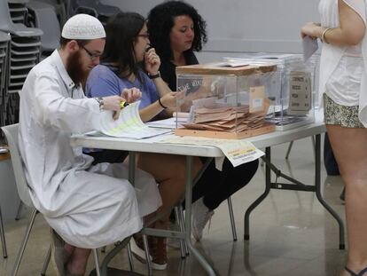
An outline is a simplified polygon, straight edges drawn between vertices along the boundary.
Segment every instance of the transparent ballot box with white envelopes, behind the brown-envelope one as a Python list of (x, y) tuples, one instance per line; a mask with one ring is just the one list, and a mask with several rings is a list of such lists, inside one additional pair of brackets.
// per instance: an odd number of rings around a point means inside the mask
[(316, 58), (305, 63), (303, 56), (297, 54), (253, 53), (238, 58), (224, 58), (224, 61), (232, 65), (271, 61), (277, 65), (279, 77), (270, 87), (270, 93), (277, 95), (276, 103), (266, 119), (276, 125), (276, 130), (289, 130), (315, 122)]

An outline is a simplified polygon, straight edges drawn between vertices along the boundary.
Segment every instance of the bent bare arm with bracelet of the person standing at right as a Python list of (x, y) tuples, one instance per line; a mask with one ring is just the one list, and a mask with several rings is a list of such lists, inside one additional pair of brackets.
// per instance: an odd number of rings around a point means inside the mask
[(325, 28), (308, 22), (301, 28), (301, 36), (320, 38), (324, 43), (338, 46), (350, 46), (360, 43), (365, 33), (365, 22), (344, 0), (338, 1), (340, 27)]

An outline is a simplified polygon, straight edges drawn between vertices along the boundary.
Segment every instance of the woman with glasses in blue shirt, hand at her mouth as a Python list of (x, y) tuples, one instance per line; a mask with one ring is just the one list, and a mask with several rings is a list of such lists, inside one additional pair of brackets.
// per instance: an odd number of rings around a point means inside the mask
[[(154, 49), (149, 48), (150, 40), (144, 18), (137, 13), (121, 12), (109, 20), (105, 31), (105, 51), (101, 64), (90, 72), (86, 83), (87, 96), (120, 95), (124, 89), (138, 89), (142, 92), (139, 108), (144, 122), (152, 120), (157, 115), (170, 113), (171, 109), (176, 107), (176, 92), (172, 92), (160, 78), (160, 58)], [(146, 74), (139, 67), (141, 64)], [(105, 162), (104, 153), (97, 152), (91, 155), (95, 156), (98, 162)], [(113, 152), (112, 155), (122, 158), (121, 152), (117, 154)], [(160, 184), (162, 206), (158, 212), (176, 204), (183, 194), (185, 185), (184, 156), (139, 154), (137, 160), (137, 167), (151, 173)], [(199, 172), (200, 167), (201, 163), (197, 159), (194, 162), (193, 176)], [(167, 229), (168, 217), (169, 214), (153, 226)], [(166, 239), (153, 237), (148, 240), (152, 268), (166, 269)], [(139, 260), (144, 259), (142, 240), (136, 236), (135, 241), (136, 243), (132, 244), (132, 251)]]

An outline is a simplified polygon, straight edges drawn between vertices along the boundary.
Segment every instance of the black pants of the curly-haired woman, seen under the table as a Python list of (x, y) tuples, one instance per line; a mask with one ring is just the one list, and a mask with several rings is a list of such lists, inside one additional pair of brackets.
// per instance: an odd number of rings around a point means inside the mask
[[(192, 189), (192, 202), (203, 197), (208, 209), (216, 209), (230, 195), (250, 182), (259, 166), (259, 161), (248, 162), (234, 168), (225, 158), (223, 170), (215, 169), (215, 161), (210, 162), (198, 183)], [(183, 202), (184, 208), (184, 202)]]

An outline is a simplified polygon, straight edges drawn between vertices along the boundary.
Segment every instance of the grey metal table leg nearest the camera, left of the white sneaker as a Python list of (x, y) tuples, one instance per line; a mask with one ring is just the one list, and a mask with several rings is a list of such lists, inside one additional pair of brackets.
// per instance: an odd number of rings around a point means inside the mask
[(192, 156), (186, 156), (186, 197), (185, 197), (185, 241), (190, 253), (195, 256), (208, 275), (215, 275), (212, 266), (191, 243), (191, 201), (192, 201)]

